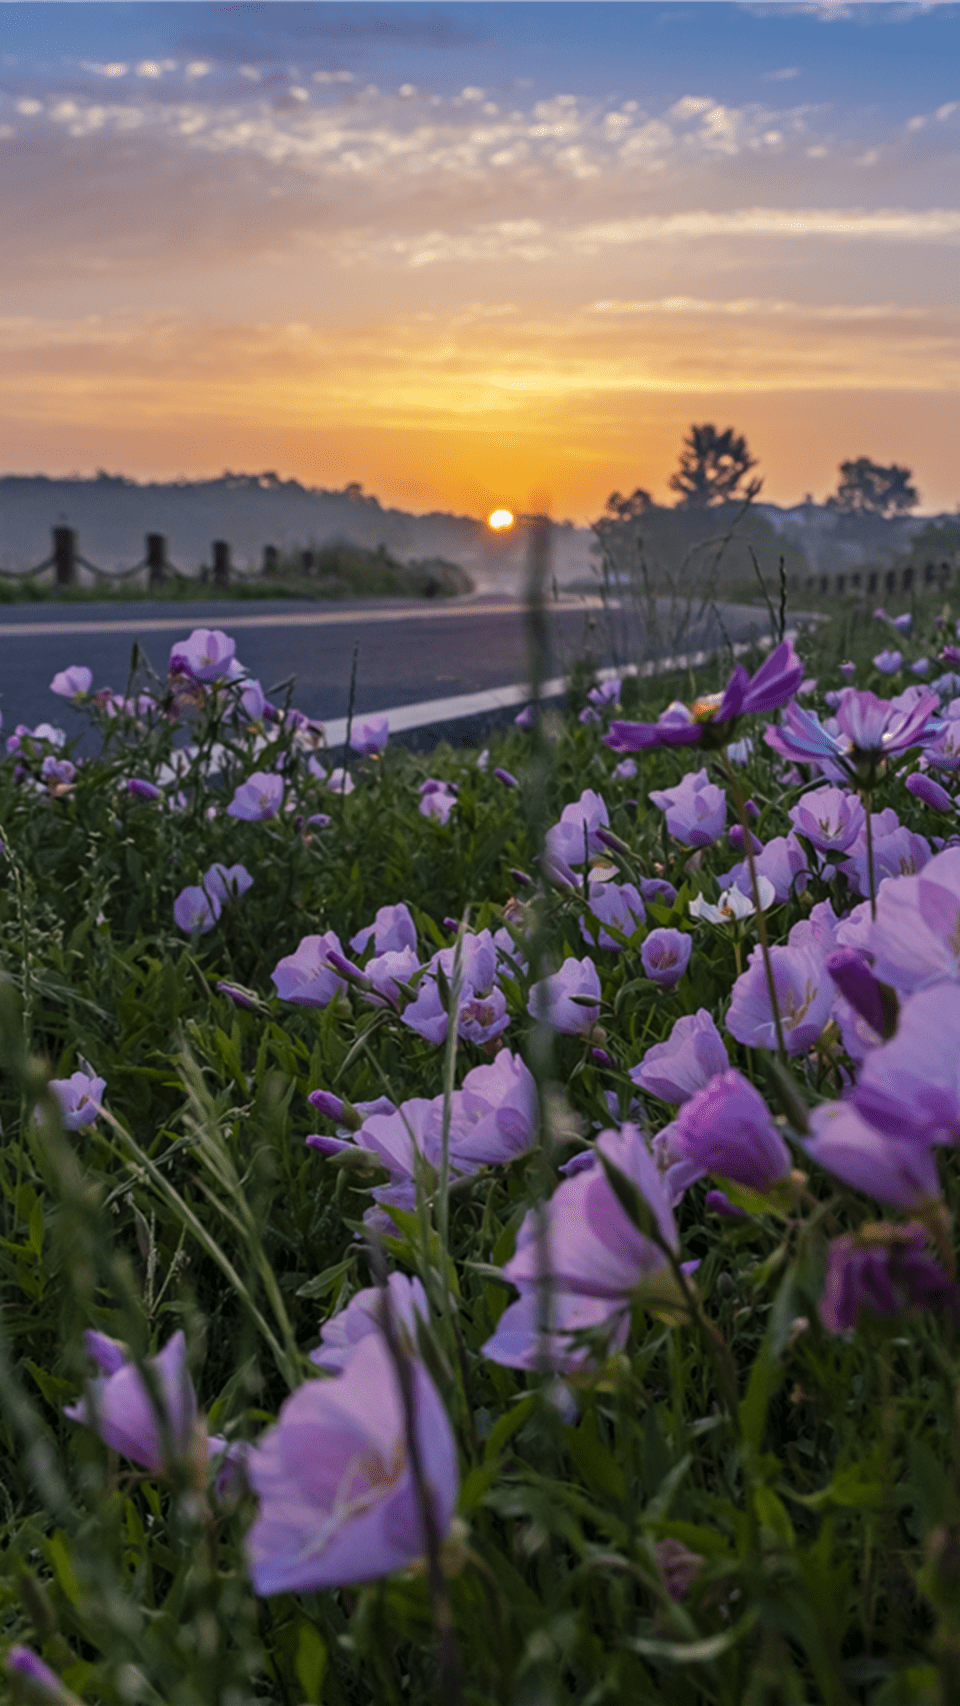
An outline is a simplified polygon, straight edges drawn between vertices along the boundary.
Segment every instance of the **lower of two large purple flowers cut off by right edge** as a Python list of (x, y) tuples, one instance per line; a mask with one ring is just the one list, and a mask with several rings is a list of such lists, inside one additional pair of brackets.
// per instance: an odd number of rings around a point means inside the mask
[(861, 1066), (853, 1092), (858, 1112), (890, 1138), (960, 1141), (958, 1039), (960, 984), (907, 996), (893, 1037)]

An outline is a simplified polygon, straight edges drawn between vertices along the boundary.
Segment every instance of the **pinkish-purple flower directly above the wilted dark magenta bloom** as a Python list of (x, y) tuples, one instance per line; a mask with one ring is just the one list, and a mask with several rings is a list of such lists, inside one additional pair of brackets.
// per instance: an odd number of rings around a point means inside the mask
[(822, 1102), (810, 1114), (812, 1138), (803, 1148), (836, 1179), (878, 1203), (907, 1211), (940, 1198), (933, 1150), (912, 1138), (887, 1138), (853, 1102)]

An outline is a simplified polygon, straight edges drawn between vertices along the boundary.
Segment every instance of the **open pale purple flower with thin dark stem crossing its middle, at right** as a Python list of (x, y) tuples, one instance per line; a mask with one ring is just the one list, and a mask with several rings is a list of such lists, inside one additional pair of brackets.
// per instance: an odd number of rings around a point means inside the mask
[[(783, 1041), (788, 1054), (803, 1054), (830, 1017), (834, 986), (818, 955), (808, 949), (772, 947), (771, 966)], [(776, 1025), (767, 989), (760, 947), (737, 978), (726, 1029), (738, 1042), (754, 1049), (776, 1049)]]

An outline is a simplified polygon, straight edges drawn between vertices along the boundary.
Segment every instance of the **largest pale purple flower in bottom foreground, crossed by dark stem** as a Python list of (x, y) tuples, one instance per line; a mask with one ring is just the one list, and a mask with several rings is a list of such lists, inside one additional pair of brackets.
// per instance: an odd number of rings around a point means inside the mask
[[(419, 1361), (409, 1363), (414, 1433), (440, 1537), (459, 1491), (447, 1411)], [(254, 1590), (312, 1593), (372, 1581), (426, 1551), (408, 1454), (399, 1378), (370, 1332), (336, 1380), (309, 1380), (249, 1455), (259, 1515), (246, 1552)]]

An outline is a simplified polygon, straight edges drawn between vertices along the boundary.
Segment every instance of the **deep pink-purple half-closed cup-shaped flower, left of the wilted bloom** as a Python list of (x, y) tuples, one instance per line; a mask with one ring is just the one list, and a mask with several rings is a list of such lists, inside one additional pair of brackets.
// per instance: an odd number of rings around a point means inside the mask
[(738, 1071), (723, 1071), (677, 1114), (677, 1146), (704, 1172), (752, 1191), (789, 1177), (789, 1150), (759, 1090)]

